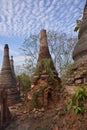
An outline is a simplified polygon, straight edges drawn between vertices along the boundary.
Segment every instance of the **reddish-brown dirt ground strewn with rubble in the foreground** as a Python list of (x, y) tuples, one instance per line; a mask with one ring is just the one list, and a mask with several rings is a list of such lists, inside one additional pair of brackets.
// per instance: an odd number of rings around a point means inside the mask
[(87, 111), (83, 115), (67, 111), (64, 102), (47, 110), (22, 108), (21, 103), (10, 108), (12, 120), (3, 130), (87, 130)]

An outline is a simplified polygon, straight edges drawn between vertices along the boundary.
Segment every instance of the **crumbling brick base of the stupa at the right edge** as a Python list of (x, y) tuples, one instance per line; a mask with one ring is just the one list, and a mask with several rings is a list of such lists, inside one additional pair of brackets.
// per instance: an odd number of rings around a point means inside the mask
[(73, 94), (78, 87), (87, 86), (87, 61), (77, 65), (72, 64), (65, 77), (65, 88), (69, 94)]

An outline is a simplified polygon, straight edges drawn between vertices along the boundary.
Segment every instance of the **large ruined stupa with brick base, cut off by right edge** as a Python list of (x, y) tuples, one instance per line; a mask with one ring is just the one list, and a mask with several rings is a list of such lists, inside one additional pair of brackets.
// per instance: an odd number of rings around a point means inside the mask
[(87, 0), (84, 7), (82, 23), (78, 34), (78, 42), (73, 51), (74, 64), (66, 79), (67, 85), (86, 86), (87, 85)]

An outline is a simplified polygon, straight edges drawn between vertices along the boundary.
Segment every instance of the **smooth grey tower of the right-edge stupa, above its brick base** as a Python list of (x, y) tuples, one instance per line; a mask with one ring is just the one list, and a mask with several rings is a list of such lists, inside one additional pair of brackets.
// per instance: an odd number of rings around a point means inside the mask
[(73, 59), (76, 64), (87, 61), (87, 0), (84, 8), (82, 24), (79, 30), (78, 43), (73, 51)]

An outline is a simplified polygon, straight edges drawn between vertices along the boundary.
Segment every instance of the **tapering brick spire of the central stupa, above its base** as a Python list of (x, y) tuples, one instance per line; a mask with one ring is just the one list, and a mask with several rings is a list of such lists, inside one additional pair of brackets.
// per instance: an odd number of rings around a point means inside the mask
[[(37, 62), (37, 66), (36, 66), (36, 72), (34, 74), (33, 77), (33, 81), (35, 82), (35, 80), (37, 81), (37, 77), (38, 77), (38, 73), (40, 71), (41, 73), (41, 77), (44, 77), (43, 73), (45, 73), (45, 71), (47, 71), (47, 68), (44, 68), (43, 66), (45, 66), (45, 64), (48, 64), (49, 68), (52, 70), (53, 73), (53, 78), (55, 77), (55, 79), (59, 79), (58, 78), (58, 73), (54, 67), (50, 52), (49, 52), (49, 48), (48, 48), (48, 42), (47, 42), (47, 35), (46, 35), (46, 30), (41, 30), (40, 32), (40, 51), (39, 51), (39, 56), (38, 56), (38, 62)], [(42, 70), (40, 67), (42, 67)], [(33, 83), (34, 83), (33, 82)]]

